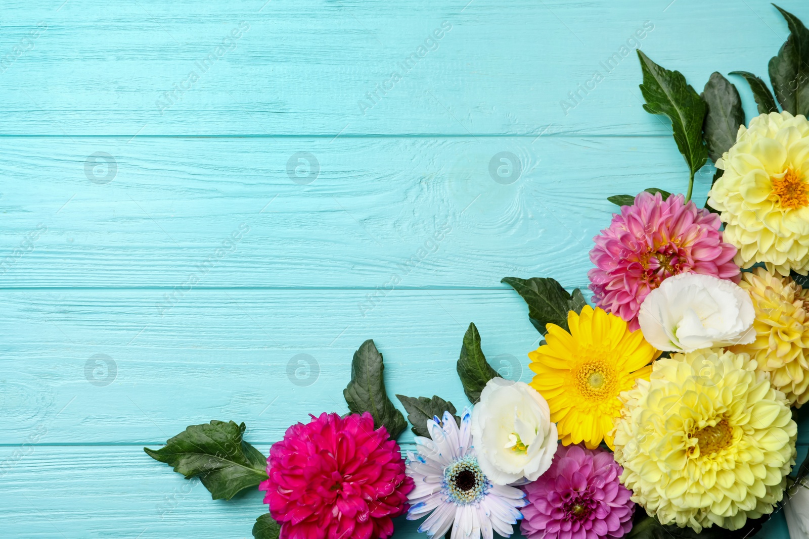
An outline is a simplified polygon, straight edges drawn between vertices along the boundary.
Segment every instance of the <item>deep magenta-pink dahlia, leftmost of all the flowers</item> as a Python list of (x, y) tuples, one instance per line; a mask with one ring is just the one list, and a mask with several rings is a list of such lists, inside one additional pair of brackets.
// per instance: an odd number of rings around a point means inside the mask
[(413, 490), (399, 445), (368, 413), (292, 425), (269, 450), (267, 474), (259, 489), (280, 539), (386, 539)]

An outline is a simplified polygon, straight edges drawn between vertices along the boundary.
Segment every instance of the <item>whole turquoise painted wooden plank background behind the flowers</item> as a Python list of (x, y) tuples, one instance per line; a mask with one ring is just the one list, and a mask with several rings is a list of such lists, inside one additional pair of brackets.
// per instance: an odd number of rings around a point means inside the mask
[(2, 537), (251, 537), (260, 493), (214, 502), (142, 447), (235, 419), (266, 453), (345, 411), (365, 339), (392, 393), (464, 405), (469, 322), (529, 380), (502, 276), (586, 287), (606, 197), (687, 182), (621, 47), (699, 90), (787, 32), (764, 0), (6, 0)]

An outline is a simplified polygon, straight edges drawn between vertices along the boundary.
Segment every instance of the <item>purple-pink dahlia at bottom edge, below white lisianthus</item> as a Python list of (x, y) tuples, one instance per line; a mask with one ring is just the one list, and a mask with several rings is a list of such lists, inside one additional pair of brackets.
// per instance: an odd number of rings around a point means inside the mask
[(543, 539), (613, 539), (632, 529), (632, 492), (618, 478), (624, 470), (604, 449), (560, 445), (553, 464), (523, 486), (523, 534)]

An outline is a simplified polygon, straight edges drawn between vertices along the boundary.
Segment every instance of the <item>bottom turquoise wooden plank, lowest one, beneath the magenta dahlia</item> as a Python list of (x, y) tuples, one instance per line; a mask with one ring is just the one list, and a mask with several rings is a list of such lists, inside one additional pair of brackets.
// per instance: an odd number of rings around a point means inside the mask
[[(197, 480), (185, 480), (135, 446), (0, 447), (0, 462), (5, 537), (246, 538), (266, 511), (260, 491), (214, 501)], [(396, 539), (425, 537), (416, 531), (419, 522), (397, 519)], [(756, 537), (783, 539), (786, 533), (779, 513)]]

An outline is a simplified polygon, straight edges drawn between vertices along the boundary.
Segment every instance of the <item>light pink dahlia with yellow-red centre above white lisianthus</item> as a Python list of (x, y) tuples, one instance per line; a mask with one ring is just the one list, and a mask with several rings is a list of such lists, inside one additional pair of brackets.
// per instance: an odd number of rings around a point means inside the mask
[(722, 242), (719, 216), (684, 200), (642, 192), (593, 238), (595, 267), (587, 273), (593, 301), (629, 322), (632, 331), (640, 327), (642, 301), (667, 277), (693, 272), (739, 282), (736, 248)]

